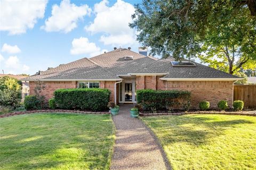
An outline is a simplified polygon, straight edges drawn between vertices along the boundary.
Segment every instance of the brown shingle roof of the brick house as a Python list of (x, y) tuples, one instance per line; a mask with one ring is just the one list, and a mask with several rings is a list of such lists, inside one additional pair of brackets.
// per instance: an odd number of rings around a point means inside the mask
[[(133, 60), (125, 60), (125, 56), (133, 56)], [(83, 58), (59, 67), (42, 71), (40, 75), (26, 78), (31, 79), (120, 79), (117, 75), (127, 74), (156, 74), (165, 73), (164, 78), (238, 78), (202, 64), (196, 67), (173, 67), (173, 58), (157, 60), (144, 56), (126, 48), (103, 53), (93, 58)]]

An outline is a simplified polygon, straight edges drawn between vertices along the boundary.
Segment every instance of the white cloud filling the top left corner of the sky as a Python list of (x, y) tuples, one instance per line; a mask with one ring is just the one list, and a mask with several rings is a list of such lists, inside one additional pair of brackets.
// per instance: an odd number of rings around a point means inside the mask
[(9, 34), (26, 33), (34, 28), (37, 19), (44, 18), (47, 0), (7, 1), (1, 0), (0, 30)]

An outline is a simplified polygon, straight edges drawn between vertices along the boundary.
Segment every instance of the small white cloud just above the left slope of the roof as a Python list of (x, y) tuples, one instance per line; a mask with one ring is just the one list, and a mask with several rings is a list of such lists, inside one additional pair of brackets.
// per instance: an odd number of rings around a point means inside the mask
[[(105, 50), (107, 52), (107, 50)], [(104, 52), (104, 51), (103, 51)], [(76, 54), (89, 54), (95, 56), (103, 53), (95, 43), (90, 43), (86, 37), (74, 38), (72, 41), (72, 48), (70, 53)]]

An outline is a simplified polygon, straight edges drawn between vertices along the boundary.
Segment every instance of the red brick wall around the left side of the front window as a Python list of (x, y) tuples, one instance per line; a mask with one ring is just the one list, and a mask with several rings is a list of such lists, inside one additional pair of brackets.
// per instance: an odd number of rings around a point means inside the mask
[[(76, 82), (44, 82), (45, 88), (42, 90), (42, 95), (45, 96), (45, 100), (49, 100), (53, 97), (53, 92), (59, 88), (76, 88)], [(34, 94), (35, 82), (29, 82), (29, 93)]]

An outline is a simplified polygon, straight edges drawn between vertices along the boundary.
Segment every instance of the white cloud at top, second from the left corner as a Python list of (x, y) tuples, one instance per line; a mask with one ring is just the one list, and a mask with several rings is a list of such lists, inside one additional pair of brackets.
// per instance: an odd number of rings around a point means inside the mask
[(52, 6), (52, 16), (45, 20), (44, 29), (50, 31), (63, 31), (68, 33), (77, 27), (77, 21), (83, 19), (85, 15), (90, 15), (91, 9), (88, 5), (76, 6), (70, 4), (69, 0), (63, 0), (60, 6), (57, 4)]

